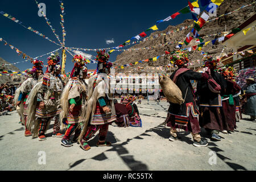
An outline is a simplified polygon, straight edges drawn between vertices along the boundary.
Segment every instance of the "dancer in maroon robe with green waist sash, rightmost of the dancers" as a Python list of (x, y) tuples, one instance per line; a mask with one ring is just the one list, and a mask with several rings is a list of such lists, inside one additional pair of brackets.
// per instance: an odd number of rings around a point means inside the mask
[(228, 131), (234, 131), (234, 129), (236, 129), (236, 118), (240, 116), (239, 108), (238, 112), (236, 109), (237, 106), (240, 106), (239, 95), (241, 94), (241, 88), (234, 81), (234, 76), (236, 74), (234, 68), (218, 68), (217, 72), (226, 80), (226, 90), (221, 96), (221, 114), (224, 127), (222, 133), (228, 133)]

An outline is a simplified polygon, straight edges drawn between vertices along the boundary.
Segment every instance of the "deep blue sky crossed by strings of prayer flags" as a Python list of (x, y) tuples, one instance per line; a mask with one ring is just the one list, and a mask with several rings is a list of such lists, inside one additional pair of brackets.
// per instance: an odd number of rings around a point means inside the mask
[[(51, 22), (56, 34), (62, 41), (60, 27), (60, 2), (58, 0), (38, 0), (46, 4), (46, 16)], [(79, 1), (64, 0), (65, 15), (64, 27), (67, 32), (65, 44), (67, 47), (79, 48), (106, 48), (115, 47), (124, 43), (131, 37), (140, 34), (142, 31), (154, 26), (157, 20), (165, 19), (188, 5), (187, 0), (180, 1)], [(32, 27), (40, 33), (48, 36), (49, 39), (58, 42), (51, 28), (43, 17), (38, 16), (38, 7), (34, 0), (0, 1), (0, 11), (14, 16), (22, 21), (24, 26)], [(164, 30), (169, 25), (182, 23), (185, 19), (191, 19), (191, 14), (180, 14), (174, 20), (158, 24), (159, 30)], [(27, 53), (31, 57), (43, 55), (59, 48), (56, 44), (36, 35), (34, 32), (15, 23), (13, 20), (0, 15), (0, 38)], [(150, 35), (149, 32), (147, 35)], [(114, 40), (114, 43), (107, 44), (106, 40)], [(126, 47), (128, 48), (128, 47)], [(85, 51), (84, 51), (85, 52)], [(61, 51), (59, 51), (61, 53)], [(96, 56), (94, 51), (86, 51)], [(110, 61), (115, 61), (116, 56), (121, 52), (110, 54)], [(158, 55), (156, 55), (158, 56)], [(15, 49), (4, 46), (0, 42), (0, 57), (16, 63), (23, 61)], [(47, 64), (47, 57), (40, 57), (40, 60)], [(21, 71), (31, 68), (30, 61), (15, 64)], [(66, 72), (73, 68), (72, 57), (67, 53)], [(88, 64), (89, 69), (96, 68), (96, 64)]]

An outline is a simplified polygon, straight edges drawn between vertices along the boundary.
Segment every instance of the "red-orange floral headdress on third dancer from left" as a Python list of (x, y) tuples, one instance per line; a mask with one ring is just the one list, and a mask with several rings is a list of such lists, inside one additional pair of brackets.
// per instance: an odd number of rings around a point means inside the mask
[(74, 77), (75, 76), (74, 73), (79, 70), (80, 70), (79, 77), (81, 78), (82, 72), (87, 72), (87, 67), (85, 66), (87, 63), (86, 59), (81, 55), (75, 55), (72, 59), (72, 62), (73, 63), (75, 62), (75, 65), (70, 74), (71, 78)]

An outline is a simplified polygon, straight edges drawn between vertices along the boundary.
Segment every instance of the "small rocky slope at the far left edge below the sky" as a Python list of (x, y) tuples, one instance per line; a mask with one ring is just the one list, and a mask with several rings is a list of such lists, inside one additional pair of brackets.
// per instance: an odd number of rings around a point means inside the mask
[[(10, 64), (6, 60), (2, 59), (0, 57), (0, 69), (3, 69), (3, 71), (15, 71), (20, 72), (19, 68), (15, 67), (13, 64), (11, 65), (4, 65), (4, 64)], [(0, 72), (0, 74), (2, 71)], [(0, 76), (0, 84), (5, 84), (6, 82), (10, 82), (10, 84), (20, 84), (25, 80), (25, 77), (22, 75), (12, 75), (10, 74), (1, 74)]]

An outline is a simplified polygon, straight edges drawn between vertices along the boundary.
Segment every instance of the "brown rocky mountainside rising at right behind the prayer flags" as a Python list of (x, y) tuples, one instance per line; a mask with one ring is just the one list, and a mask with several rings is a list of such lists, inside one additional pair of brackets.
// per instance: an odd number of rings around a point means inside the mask
[[(254, 0), (224, 0), (224, 2), (218, 7), (217, 9), (217, 16), (220, 16), (222, 14), (229, 13), (233, 10), (236, 10), (240, 8), (243, 5), (249, 5), (250, 3), (253, 3)], [(245, 7), (243, 9), (240, 9), (232, 14), (222, 16), (218, 18), (217, 20), (213, 20), (211, 22), (205, 23), (203, 28), (199, 31), (200, 37), (204, 39), (204, 42), (208, 42), (209, 40), (213, 40), (216, 38), (220, 38), (222, 35), (216, 35), (216, 36), (209, 36), (207, 38), (204, 38), (204, 36), (217, 34), (219, 32), (230, 32), (233, 28), (238, 27), (241, 23), (243, 23), (246, 19), (250, 18), (255, 14), (255, 4)], [(182, 16), (179, 15), (179, 16)], [(210, 17), (209, 19), (213, 19), (216, 17)], [(171, 21), (171, 20), (170, 20)], [(186, 19), (183, 23), (178, 24), (177, 26), (168, 26), (166, 30), (163, 31), (155, 31), (152, 32), (150, 36), (164, 34), (166, 32), (175, 30), (177, 28), (182, 27), (188, 27), (191, 26), (193, 23), (192, 19)], [(192, 30), (192, 27), (185, 28), (184, 30), (172, 32), (171, 34), (158, 36), (158, 38), (149, 39), (146, 41), (142, 41), (139, 44), (135, 44), (135, 46), (130, 47), (129, 49), (135, 49), (135, 48), (146, 48), (146, 47), (155, 47), (152, 49), (139, 49), (139, 50), (132, 50), (132, 51), (125, 51), (122, 52), (120, 55), (117, 56), (117, 59), (114, 63), (118, 65), (124, 65), (129, 63), (134, 63), (135, 61), (140, 60), (146, 60), (150, 59), (155, 56), (164, 55), (165, 51), (172, 52), (176, 50), (175, 48), (178, 43), (172, 43), (172, 44), (166, 44), (168, 42), (184, 42), (186, 35), (188, 32)], [(192, 47), (199, 43), (195, 43), (196, 39), (193, 39), (188, 46), (183, 44), (183, 48)], [(164, 46), (159, 46), (160, 44), (166, 44)], [(232, 52), (232, 49), (225, 48), (223, 51), (223, 46), (216, 42), (216, 44), (212, 45), (212, 43), (207, 44), (207, 46), (203, 46), (202, 51), (207, 52), (208, 55), (216, 57), (220, 56), (221, 52), (224, 53), (230, 53)], [(202, 55), (200, 54), (201, 51), (193, 51), (189, 56), (189, 59), (194, 61), (198, 59), (202, 59)], [(222, 54), (222, 55), (223, 55)], [(133, 65), (131, 67), (125, 67), (124, 69), (118, 68), (115, 72), (152, 72), (152, 69), (148, 68), (154, 68), (154, 67), (160, 67), (164, 66), (170, 63), (170, 59), (167, 56), (161, 56), (157, 61), (148, 61), (147, 63), (138, 63), (136, 65)], [(140, 69), (139, 67), (143, 67)], [(134, 69), (131, 69), (134, 68)], [(160, 70), (154, 70), (154, 72), (162, 72)]]

